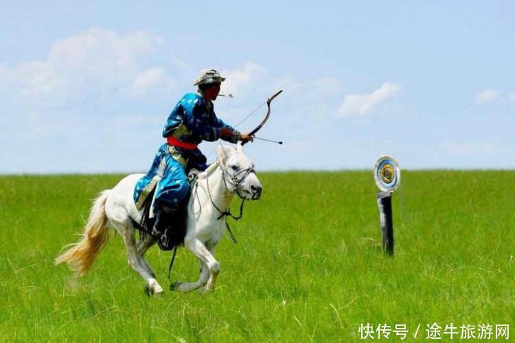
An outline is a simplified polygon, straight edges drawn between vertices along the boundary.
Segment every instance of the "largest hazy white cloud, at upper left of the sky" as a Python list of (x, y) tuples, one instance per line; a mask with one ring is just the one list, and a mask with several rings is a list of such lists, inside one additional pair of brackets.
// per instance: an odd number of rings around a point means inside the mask
[[(1, 67), (0, 84), (16, 88), (16, 97), (38, 104), (63, 104), (93, 92), (106, 97), (124, 87), (144, 86), (156, 80), (159, 70), (141, 72), (139, 64), (163, 39), (139, 30), (119, 36), (108, 29), (91, 28), (82, 34), (55, 40), (45, 60)], [(134, 93), (134, 92), (133, 92)]]

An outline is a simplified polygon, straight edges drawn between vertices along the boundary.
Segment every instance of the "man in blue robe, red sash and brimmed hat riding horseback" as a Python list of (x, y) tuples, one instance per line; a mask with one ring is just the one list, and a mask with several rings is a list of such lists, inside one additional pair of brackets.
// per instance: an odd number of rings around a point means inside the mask
[(191, 169), (207, 168), (207, 159), (198, 150), (198, 144), (203, 140), (247, 143), (253, 139), (251, 134), (238, 132), (214, 113), (213, 102), (224, 80), (214, 69), (201, 71), (194, 82), (198, 90), (185, 94), (168, 116), (163, 129), (166, 143), (159, 147), (152, 167), (135, 186), (133, 198), (137, 209), (150, 204), (149, 217), (154, 218), (152, 230), (145, 229), (150, 230), (163, 250), (178, 246), (184, 238), (185, 206), (190, 195), (187, 174)]

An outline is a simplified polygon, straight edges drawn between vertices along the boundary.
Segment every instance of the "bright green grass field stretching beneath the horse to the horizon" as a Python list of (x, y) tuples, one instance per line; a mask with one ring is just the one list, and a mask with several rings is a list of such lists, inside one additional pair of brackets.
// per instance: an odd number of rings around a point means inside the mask
[[(122, 176), (0, 177), (0, 341), (354, 342), (367, 322), (407, 324), (408, 341), (434, 322), (510, 324), (515, 337), (515, 171), (403, 171), (393, 259), (371, 172), (258, 176), (262, 200), (229, 219), (238, 244), (217, 248), (216, 290), (168, 291), (171, 254), (152, 248), (167, 288), (155, 298), (118, 236), (80, 279), (53, 264)], [(179, 250), (172, 281), (197, 276)]]

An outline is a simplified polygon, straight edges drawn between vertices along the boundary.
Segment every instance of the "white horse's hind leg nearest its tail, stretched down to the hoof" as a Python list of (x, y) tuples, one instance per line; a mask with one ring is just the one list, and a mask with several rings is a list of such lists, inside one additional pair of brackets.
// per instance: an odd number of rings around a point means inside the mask
[[(113, 221), (111, 221), (113, 222)], [(145, 279), (148, 287), (150, 287), (150, 292), (152, 293), (163, 293), (163, 288), (157, 280), (152, 277), (152, 275), (146, 270), (146, 268), (141, 267), (139, 264), (139, 259), (137, 256), (137, 248), (135, 242), (135, 230), (132, 225), (125, 224), (123, 222), (113, 222), (118, 233), (124, 239), (125, 248), (127, 250), (127, 261), (130, 267), (133, 268), (143, 279)]]

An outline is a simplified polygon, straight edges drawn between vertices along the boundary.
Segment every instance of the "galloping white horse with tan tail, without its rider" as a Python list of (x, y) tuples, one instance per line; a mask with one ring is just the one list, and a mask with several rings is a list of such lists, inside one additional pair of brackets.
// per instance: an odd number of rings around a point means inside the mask
[[(258, 200), (262, 186), (253, 169), (253, 162), (243, 154), (240, 144), (235, 148), (218, 145), (215, 163), (198, 174), (192, 196), (187, 204), (186, 235), (184, 246), (201, 263), (198, 281), (176, 282), (170, 289), (190, 292), (204, 287), (214, 288), (220, 272), (214, 258), (214, 248), (225, 230), (225, 215), (231, 200), (236, 194), (242, 200)], [(108, 241), (110, 224), (117, 230), (127, 250), (128, 264), (146, 281), (146, 290), (154, 294), (163, 292), (156, 280), (156, 274), (145, 260), (145, 252), (155, 244), (150, 235), (140, 236), (135, 242), (134, 222), (139, 223), (144, 214), (138, 210), (133, 200), (135, 184), (143, 174), (132, 174), (122, 179), (113, 189), (105, 190), (94, 201), (91, 213), (84, 228), (82, 239), (72, 248), (56, 257), (56, 264), (66, 262), (79, 276), (86, 274), (95, 258)]]

